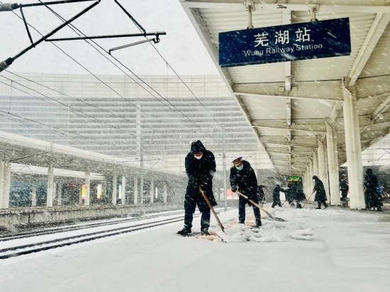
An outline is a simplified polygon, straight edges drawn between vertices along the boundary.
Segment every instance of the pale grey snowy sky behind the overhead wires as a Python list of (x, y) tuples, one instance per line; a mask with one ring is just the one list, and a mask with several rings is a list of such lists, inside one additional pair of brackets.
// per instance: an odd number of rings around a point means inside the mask
[[(38, 0), (19, 0), (17, 3), (35, 1), (38, 2)], [(161, 37), (161, 42), (156, 47), (177, 73), (218, 74), (179, 0), (121, 0), (120, 2), (147, 31), (165, 30), (167, 32), (167, 35)], [(91, 3), (61, 4), (51, 7), (63, 17), (70, 18)], [(16, 13), (19, 14), (19, 11)], [(61, 23), (45, 7), (28, 8), (24, 10), (24, 13), (28, 23), (41, 33), (48, 33)], [(139, 32), (113, 0), (102, 0), (98, 6), (74, 21), (73, 24), (87, 35)], [(24, 47), (30, 45), (23, 21), (13, 13), (0, 13), (0, 28), (0, 61), (16, 55)], [(38, 40), (38, 33), (32, 34), (33, 39)], [(63, 28), (55, 36), (77, 35), (69, 28)], [(111, 47), (133, 43), (137, 40), (142, 40), (142, 38), (98, 40), (98, 43), (108, 50)], [(57, 45), (94, 74), (123, 74), (84, 40), (60, 42)], [(135, 74), (167, 73), (165, 62), (149, 44), (118, 50), (113, 52), (113, 55), (132, 69)], [(50, 43), (42, 43), (30, 50), (16, 60), (9, 70), (12, 72), (89, 74)], [(168, 69), (168, 74), (173, 74), (173, 72)]]

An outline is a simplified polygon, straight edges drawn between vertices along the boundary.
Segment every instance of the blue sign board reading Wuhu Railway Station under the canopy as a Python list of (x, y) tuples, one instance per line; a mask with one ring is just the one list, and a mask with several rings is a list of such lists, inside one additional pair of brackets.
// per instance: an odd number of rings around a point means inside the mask
[(350, 55), (350, 18), (219, 33), (221, 67)]

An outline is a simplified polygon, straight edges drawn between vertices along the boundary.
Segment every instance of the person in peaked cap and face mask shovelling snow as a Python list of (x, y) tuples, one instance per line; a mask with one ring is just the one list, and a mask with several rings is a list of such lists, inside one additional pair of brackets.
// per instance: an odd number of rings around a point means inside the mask
[[(230, 169), (230, 186), (232, 191), (240, 191), (248, 199), (243, 196), (238, 198), (238, 222), (245, 223), (245, 205), (248, 204), (252, 206), (249, 199), (255, 203), (259, 203), (257, 198), (257, 179), (255, 171), (250, 166), (250, 163), (243, 160), (243, 157), (238, 157), (233, 160), (233, 167)], [(262, 220), (260, 218), (260, 209), (256, 206), (253, 207), (253, 213), (255, 214), (256, 225), (255, 227), (260, 227), (262, 225)]]

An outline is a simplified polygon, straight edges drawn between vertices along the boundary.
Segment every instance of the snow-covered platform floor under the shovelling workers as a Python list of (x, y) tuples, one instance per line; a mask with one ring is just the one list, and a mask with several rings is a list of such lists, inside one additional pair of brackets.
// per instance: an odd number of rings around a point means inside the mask
[(272, 213), (287, 222), (251, 230), (236, 224), (238, 210), (221, 213), (230, 243), (179, 237), (174, 223), (0, 260), (1, 291), (388, 291), (387, 209)]

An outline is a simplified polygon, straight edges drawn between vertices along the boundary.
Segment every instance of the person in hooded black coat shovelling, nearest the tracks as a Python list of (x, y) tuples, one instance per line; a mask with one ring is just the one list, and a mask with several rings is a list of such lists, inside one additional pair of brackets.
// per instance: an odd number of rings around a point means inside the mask
[(216, 206), (217, 202), (213, 196), (212, 179), (216, 173), (216, 159), (213, 152), (206, 150), (201, 141), (195, 141), (191, 144), (191, 152), (186, 156), (186, 174), (188, 184), (186, 196), (184, 198), (184, 228), (177, 232), (179, 235), (188, 235), (191, 233), (192, 220), (198, 205), (201, 215), (201, 232), (208, 235), (210, 227), (210, 208), (206, 200), (199, 191), (199, 186), (204, 190), (211, 206)]

